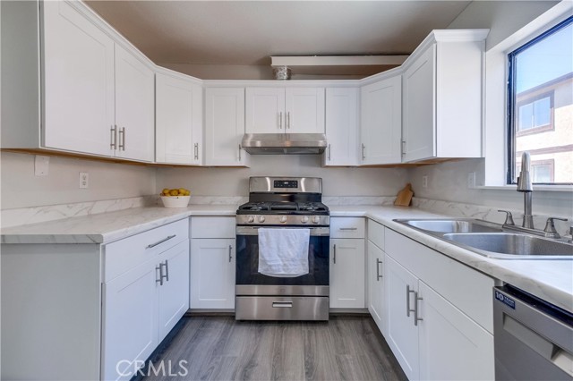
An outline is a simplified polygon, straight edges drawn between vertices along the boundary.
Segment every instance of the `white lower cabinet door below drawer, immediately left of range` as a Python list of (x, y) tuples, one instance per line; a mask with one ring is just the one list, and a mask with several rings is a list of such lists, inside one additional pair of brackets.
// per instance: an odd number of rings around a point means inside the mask
[(190, 308), (235, 308), (235, 240), (192, 239)]

